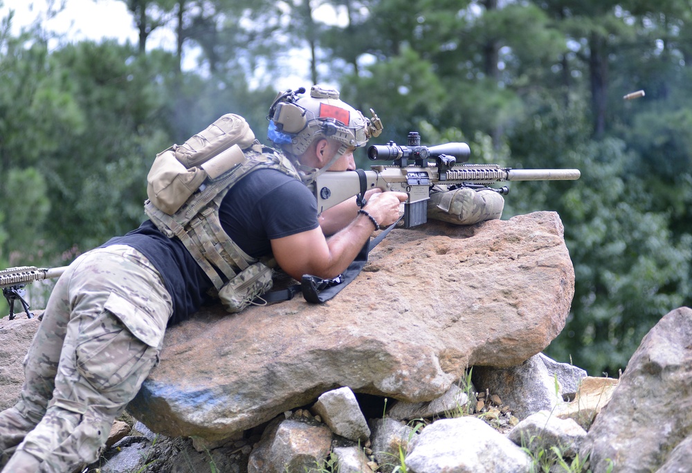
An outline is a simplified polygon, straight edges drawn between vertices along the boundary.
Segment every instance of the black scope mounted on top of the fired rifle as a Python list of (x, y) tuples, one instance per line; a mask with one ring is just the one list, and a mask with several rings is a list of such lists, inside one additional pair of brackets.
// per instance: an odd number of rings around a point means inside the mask
[(445, 145), (423, 146), (420, 145), (420, 137), (418, 133), (412, 136), (415, 132), (408, 135), (409, 145), (398, 146), (395, 142), (390, 141), (386, 145), (372, 145), (367, 149), (367, 157), (373, 161), (394, 161), (394, 160), (426, 160), (430, 158), (438, 158), (439, 156), (454, 156), (456, 163), (466, 163), (468, 156), (471, 155), (471, 149), (466, 143), (452, 142)]

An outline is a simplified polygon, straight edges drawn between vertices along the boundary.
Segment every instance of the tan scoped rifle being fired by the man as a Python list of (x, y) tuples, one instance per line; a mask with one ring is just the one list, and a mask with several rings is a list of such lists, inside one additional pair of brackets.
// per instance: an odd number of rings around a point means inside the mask
[[(365, 205), (363, 196), (368, 189), (399, 191), (408, 194), (404, 204), (404, 228), (415, 227), (428, 221), (427, 208), (430, 191), (435, 185), (447, 185), (449, 190), (459, 187), (491, 189), (500, 194), (509, 188), (490, 187), (491, 183), (511, 180), (576, 180), (579, 169), (512, 169), (492, 164), (464, 164), (471, 149), (463, 142), (426, 147), (415, 131), (408, 133), (408, 146), (393, 141), (386, 145), (373, 145), (367, 149), (370, 160), (393, 161), (393, 165), (375, 165), (370, 171), (334, 171), (319, 174), (313, 192), (317, 197), (318, 212), (334, 207), (352, 196), (358, 196), (358, 205)], [(434, 164), (430, 160), (435, 160)]]

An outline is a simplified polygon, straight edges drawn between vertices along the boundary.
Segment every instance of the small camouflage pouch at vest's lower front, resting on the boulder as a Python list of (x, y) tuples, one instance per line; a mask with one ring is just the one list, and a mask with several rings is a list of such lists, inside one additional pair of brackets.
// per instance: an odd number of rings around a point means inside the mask
[(219, 299), (228, 312), (240, 312), (253, 304), (255, 297), (270, 290), (272, 284), (271, 268), (264, 263), (254, 263), (219, 289)]

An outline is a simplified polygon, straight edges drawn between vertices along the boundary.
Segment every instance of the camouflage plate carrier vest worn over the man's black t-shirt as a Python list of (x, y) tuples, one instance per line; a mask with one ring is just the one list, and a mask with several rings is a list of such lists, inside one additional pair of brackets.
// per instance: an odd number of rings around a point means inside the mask
[[(212, 156), (200, 166), (204, 172), (197, 173), (204, 176), (203, 180), (185, 177), (190, 175), (191, 170), (176, 160), (174, 151), (175, 147), (159, 154), (156, 158), (158, 165), (155, 162), (149, 172), (149, 199), (145, 201), (145, 212), (166, 236), (177, 236), (181, 240), (214, 284), (226, 310), (242, 310), (257, 295), (271, 289), (271, 268), (266, 266), (267, 261), (261, 262), (246, 254), (224, 231), (219, 219), (221, 201), (233, 185), (257, 169), (276, 169), (298, 180), (300, 175), (283, 154), (262, 147), (256, 140), (251, 147), (242, 151), (238, 145), (228, 148), (224, 151), (226, 158), (221, 160), (221, 165), (219, 159)], [(215, 159), (217, 163), (214, 163)], [(179, 174), (174, 175), (170, 169), (176, 169)], [(194, 167), (194, 170), (199, 171), (199, 168)], [(181, 180), (185, 181), (182, 185)], [(190, 184), (199, 180), (201, 183)], [(174, 185), (179, 187), (172, 188)], [(180, 198), (188, 191), (192, 191), (192, 195), (177, 209), (178, 204), (171, 203), (170, 198), (168, 201), (161, 198), (165, 192)], [(154, 205), (154, 202), (158, 205)], [(239, 202), (237, 205), (246, 203)], [(164, 207), (166, 211), (159, 207)]]

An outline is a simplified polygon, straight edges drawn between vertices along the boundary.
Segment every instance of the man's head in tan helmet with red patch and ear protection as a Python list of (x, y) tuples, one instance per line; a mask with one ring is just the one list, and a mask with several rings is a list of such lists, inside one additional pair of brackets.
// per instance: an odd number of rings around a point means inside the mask
[(325, 164), (329, 167), (381, 133), (382, 124), (376, 115), (368, 120), (361, 111), (340, 100), (336, 89), (316, 85), (309, 96), (304, 93), (302, 88), (279, 93), (267, 115), (267, 138), (293, 158), (307, 156), (311, 161), (313, 151), (338, 154)]

